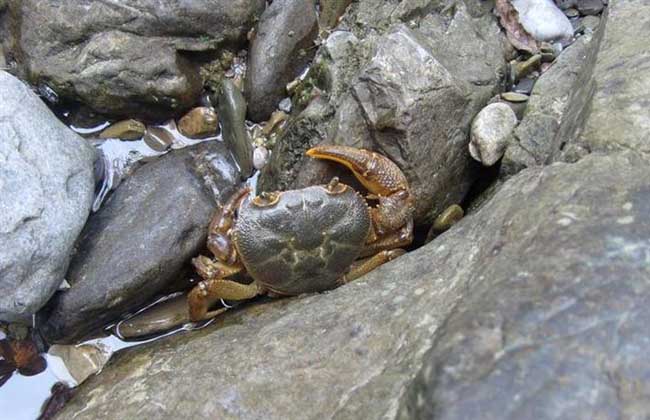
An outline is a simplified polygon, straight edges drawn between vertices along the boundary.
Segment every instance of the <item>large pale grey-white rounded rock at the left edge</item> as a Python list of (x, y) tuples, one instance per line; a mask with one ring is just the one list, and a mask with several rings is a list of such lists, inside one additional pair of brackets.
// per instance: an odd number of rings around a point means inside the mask
[(95, 153), (3, 71), (0, 91), (0, 321), (31, 324), (88, 217)]

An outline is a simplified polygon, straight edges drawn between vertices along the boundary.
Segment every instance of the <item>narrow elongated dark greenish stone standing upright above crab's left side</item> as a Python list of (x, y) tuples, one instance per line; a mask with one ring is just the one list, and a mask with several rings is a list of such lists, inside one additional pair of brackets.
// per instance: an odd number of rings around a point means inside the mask
[(246, 131), (246, 100), (230, 80), (224, 80), (219, 93), (219, 116), (223, 139), (235, 156), (241, 176), (253, 172), (253, 145)]

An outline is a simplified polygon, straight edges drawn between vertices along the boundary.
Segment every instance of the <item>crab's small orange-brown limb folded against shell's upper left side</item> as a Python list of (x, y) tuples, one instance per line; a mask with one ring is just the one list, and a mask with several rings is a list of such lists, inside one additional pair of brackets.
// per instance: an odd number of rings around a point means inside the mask
[(230, 239), (230, 229), (234, 223), (235, 212), (250, 193), (245, 187), (230, 196), (226, 204), (218, 209), (208, 227), (208, 249), (221, 262), (232, 265), (237, 261), (237, 252)]

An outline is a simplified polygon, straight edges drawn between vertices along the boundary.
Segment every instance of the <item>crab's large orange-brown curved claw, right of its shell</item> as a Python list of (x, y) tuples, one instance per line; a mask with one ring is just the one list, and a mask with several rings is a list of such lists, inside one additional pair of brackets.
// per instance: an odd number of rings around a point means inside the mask
[(378, 153), (348, 146), (316, 146), (307, 156), (338, 162), (379, 200), (372, 209), (376, 237), (394, 232), (413, 215), (414, 199), (402, 170), (390, 159)]

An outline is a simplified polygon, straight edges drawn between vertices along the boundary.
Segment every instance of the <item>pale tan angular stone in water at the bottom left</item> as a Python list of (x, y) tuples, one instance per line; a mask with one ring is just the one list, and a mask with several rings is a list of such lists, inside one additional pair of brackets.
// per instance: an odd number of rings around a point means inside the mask
[(111, 358), (112, 351), (100, 343), (82, 345), (54, 344), (50, 346), (47, 353), (62, 360), (68, 373), (78, 385), (91, 375), (100, 372)]

